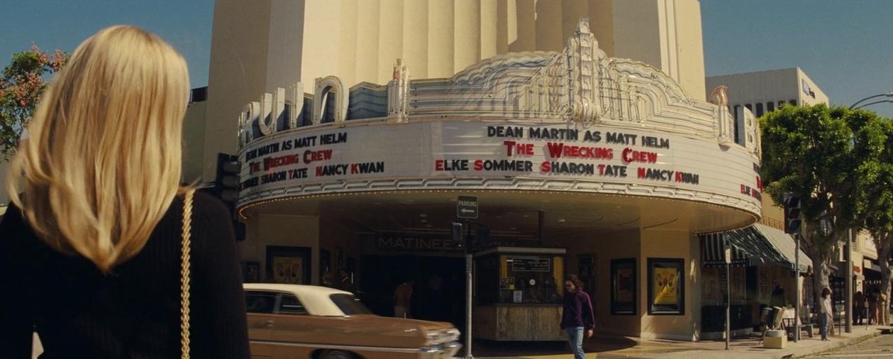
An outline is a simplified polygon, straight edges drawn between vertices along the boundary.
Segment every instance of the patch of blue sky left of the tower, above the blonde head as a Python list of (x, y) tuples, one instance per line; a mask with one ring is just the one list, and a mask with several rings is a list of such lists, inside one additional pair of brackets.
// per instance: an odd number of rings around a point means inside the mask
[[(251, 0), (246, 0), (251, 1)], [(41, 50), (74, 50), (116, 24), (154, 32), (186, 58), (192, 87), (208, 84), (213, 0), (4, 0), (0, 66), (34, 42)]]

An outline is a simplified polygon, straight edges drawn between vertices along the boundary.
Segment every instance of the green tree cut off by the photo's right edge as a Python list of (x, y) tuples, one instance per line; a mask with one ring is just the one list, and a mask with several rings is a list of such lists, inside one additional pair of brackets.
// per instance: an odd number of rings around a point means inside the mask
[[(860, 141), (869, 143), (865, 154), (877, 155), (878, 161), (866, 163), (859, 175), (864, 181), (862, 211), (866, 214), (864, 228), (872, 233), (880, 263), (880, 292), (890, 293), (890, 253), (893, 251), (893, 122), (882, 119), (877, 122), (882, 136), (871, 137), (857, 134)], [(864, 137), (864, 138), (863, 138)], [(886, 307), (883, 309), (887, 309)], [(886, 313), (886, 312), (885, 312)], [(880, 318), (884, 325), (887, 315)]]

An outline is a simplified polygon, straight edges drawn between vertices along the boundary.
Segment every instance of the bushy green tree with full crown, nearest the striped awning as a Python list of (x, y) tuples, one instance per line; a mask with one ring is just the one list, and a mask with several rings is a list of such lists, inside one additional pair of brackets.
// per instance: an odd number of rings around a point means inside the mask
[(828, 287), (830, 260), (847, 230), (864, 225), (866, 179), (877, 168), (883, 138), (880, 118), (846, 107), (782, 106), (760, 119), (762, 179), (782, 203), (786, 192), (801, 198), (803, 238), (814, 265), (814, 297)]

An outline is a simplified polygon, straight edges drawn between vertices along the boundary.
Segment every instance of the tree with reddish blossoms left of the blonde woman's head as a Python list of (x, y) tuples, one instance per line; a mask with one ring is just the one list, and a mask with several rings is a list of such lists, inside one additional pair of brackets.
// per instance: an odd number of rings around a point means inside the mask
[(13, 62), (0, 77), (0, 161), (8, 161), (19, 146), (22, 132), (40, 96), (46, 89), (46, 77), (62, 68), (68, 54), (55, 50), (44, 53), (36, 45), (29, 51), (13, 54)]

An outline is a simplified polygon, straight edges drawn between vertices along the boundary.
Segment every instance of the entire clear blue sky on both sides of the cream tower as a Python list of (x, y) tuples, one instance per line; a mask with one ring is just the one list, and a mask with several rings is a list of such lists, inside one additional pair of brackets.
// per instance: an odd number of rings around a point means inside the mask
[[(250, 1), (250, 0), (248, 0)], [(0, 64), (29, 48), (71, 51), (113, 24), (171, 42), (207, 84), (213, 0), (6, 0)], [(893, 91), (893, 1), (701, 0), (706, 75), (800, 67), (833, 104)], [(893, 118), (893, 104), (868, 107)]]

